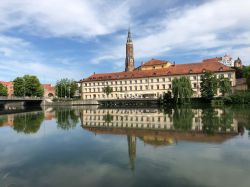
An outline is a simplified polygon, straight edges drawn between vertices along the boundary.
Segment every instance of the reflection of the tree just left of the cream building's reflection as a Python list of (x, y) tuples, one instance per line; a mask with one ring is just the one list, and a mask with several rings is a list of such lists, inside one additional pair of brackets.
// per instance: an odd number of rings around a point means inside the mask
[(63, 130), (74, 129), (79, 121), (79, 117), (74, 110), (56, 110), (57, 127)]

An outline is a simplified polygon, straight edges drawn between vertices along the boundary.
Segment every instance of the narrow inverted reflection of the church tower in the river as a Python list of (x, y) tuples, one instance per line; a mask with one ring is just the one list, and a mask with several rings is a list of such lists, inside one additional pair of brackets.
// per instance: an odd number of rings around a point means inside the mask
[(128, 155), (131, 169), (135, 169), (135, 159), (136, 159), (136, 137), (135, 136), (127, 136), (128, 139)]

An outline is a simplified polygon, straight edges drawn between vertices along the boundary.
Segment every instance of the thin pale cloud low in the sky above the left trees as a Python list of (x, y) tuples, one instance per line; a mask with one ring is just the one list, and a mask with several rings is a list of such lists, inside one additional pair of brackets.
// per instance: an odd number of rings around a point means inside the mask
[(76, 64), (65, 65), (66, 59), (60, 58), (48, 63), (47, 59), (32, 44), (20, 38), (0, 35), (0, 80), (10, 81), (8, 78), (24, 74), (36, 75), (42, 82), (49, 83), (64, 77), (82, 78), (83, 71), (78, 70)]

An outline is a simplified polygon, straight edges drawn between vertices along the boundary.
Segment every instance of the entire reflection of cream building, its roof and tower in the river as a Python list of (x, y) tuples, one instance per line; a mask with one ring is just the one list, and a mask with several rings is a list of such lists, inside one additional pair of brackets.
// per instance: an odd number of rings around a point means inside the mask
[(181, 140), (222, 143), (238, 131), (231, 113), (221, 109), (170, 109), (166, 114), (157, 109), (89, 109), (81, 112), (81, 122), (84, 129), (95, 134), (126, 135), (132, 170), (137, 137), (156, 147)]

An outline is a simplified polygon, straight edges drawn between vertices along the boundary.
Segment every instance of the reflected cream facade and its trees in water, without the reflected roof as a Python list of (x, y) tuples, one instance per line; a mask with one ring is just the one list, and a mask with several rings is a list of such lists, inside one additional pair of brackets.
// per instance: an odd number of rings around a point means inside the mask
[[(157, 109), (94, 109), (81, 111), (82, 126), (97, 132), (123, 133), (188, 132), (206, 135), (237, 134), (238, 122), (230, 109), (174, 108), (164, 112)], [(112, 129), (112, 130), (111, 130)], [(211, 136), (211, 140), (214, 136)]]

